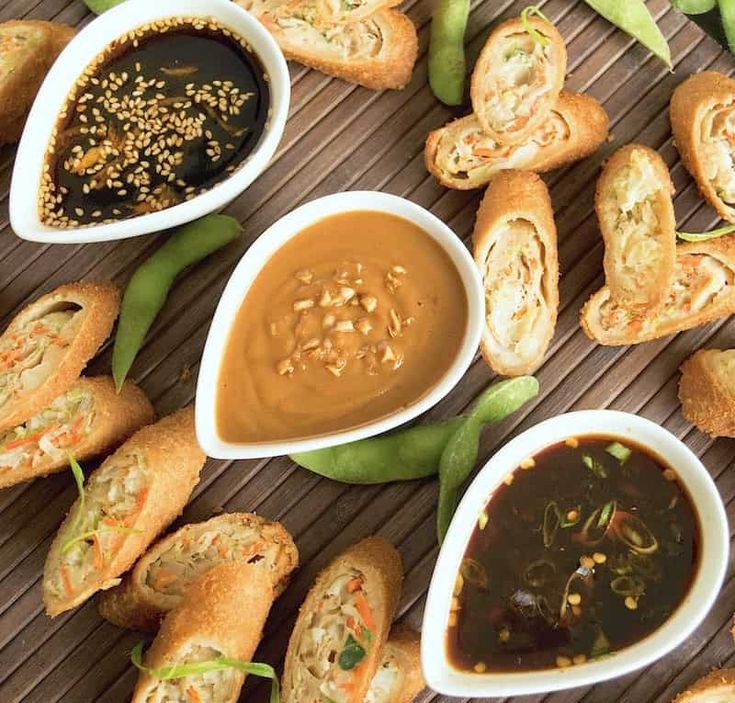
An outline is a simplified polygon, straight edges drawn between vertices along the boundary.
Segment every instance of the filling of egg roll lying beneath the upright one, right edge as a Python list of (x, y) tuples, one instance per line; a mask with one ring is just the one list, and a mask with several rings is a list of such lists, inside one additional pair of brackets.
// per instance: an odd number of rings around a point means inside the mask
[(734, 285), (735, 272), (719, 259), (708, 254), (680, 255), (674, 283), (656, 315), (637, 315), (608, 298), (598, 311), (600, 325), (620, 335), (646, 334), (718, 305), (723, 297), (732, 296)]

